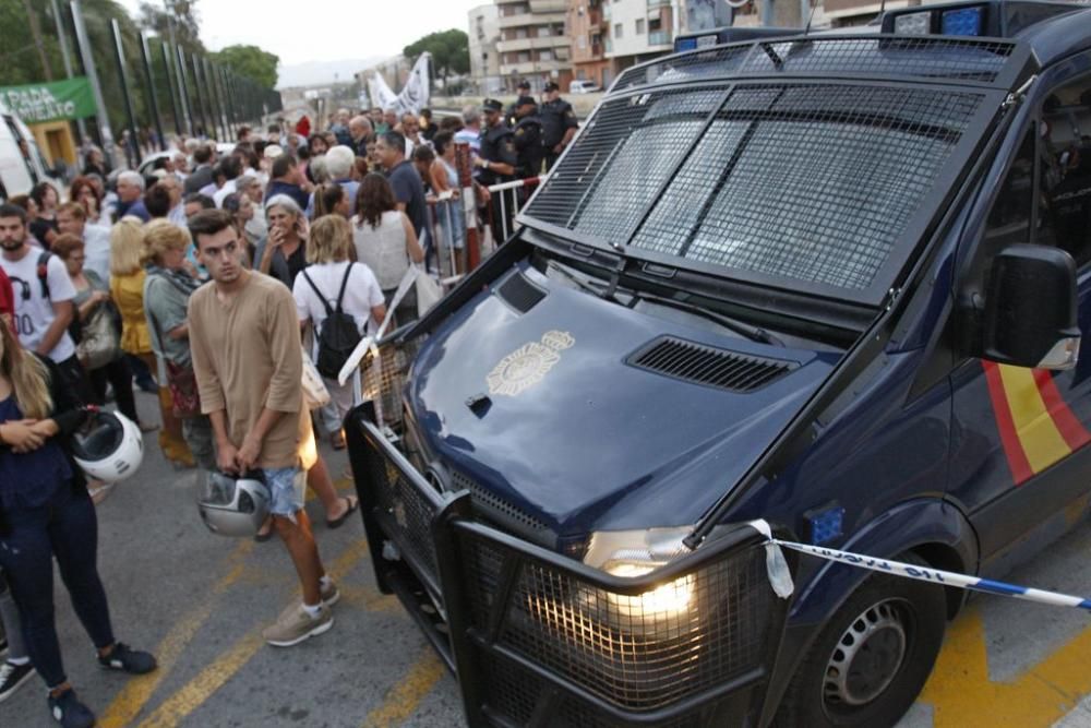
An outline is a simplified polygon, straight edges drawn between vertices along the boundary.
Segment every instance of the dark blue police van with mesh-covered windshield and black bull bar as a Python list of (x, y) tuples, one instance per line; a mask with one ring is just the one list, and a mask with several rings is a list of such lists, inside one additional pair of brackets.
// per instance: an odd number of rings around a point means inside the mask
[[(350, 456), (470, 726), (890, 726), (1091, 498), (1091, 9), (888, 12), (626, 70), (384, 342)], [(377, 374), (376, 374), (377, 372)]]

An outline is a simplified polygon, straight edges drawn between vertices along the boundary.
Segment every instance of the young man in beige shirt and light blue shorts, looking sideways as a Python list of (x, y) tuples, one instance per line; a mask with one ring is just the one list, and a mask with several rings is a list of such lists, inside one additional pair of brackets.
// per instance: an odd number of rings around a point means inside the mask
[(189, 219), (197, 259), (212, 282), (189, 302), (190, 346), (201, 393), (225, 473), (260, 470), (272, 496), (274, 528), (284, 539), (303, 587), (263, 633), (278, 647), (333, 626), (329, 606), (340, 596), (325, 574), (303, 510), (307, 469), (316, 450), (303, 405), (299, 323), (291, 291), (242, 265), (244, 243), (229, 213), (206, 210)]

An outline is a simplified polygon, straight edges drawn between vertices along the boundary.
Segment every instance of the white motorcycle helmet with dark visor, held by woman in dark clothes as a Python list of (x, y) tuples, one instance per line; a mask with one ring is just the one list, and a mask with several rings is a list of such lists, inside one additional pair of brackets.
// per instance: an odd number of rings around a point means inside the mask
[(144, 438), (124, 415), (93, 409), (72, 435), (72, 456), (88, 477), (120, 482), (140, 469)]

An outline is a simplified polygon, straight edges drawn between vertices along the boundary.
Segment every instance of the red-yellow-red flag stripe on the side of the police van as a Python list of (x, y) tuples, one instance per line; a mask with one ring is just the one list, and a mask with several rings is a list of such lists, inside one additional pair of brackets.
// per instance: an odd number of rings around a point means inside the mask
[(1018, 486), (1091, 441), (1047, 370), (983, 361), (1000, 442)]

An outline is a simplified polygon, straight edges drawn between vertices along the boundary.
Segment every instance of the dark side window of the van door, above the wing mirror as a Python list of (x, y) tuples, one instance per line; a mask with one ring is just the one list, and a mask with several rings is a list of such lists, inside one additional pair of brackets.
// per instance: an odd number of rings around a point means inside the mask
[(1091, 77), (1057, 88), (1042, 106), (1035, 242), (1091, 261)]

